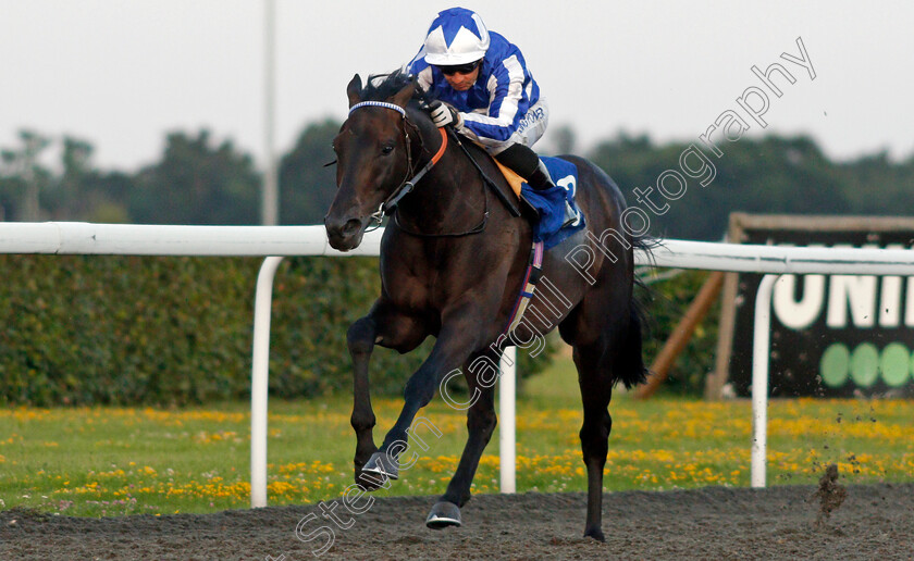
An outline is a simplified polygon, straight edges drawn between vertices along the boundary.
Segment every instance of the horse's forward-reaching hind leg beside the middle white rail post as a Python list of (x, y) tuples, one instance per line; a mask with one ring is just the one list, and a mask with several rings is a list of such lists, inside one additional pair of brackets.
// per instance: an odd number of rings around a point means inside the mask
[(470, 485), (473, 483), (479, 459), (492, 438), (497, 423), (495, 416), (495, 379), (498, 376), (501, 353), (489, 351), (470, 358), (464, 366), (464, 376), (469, 388), (467, 403), (452, 407), (469, 407), (467, 411), (467, 432), (469, 438), (464, 446), (460, 463), (454, 473), (447, 490), (432, 507), (425, 525), (430, 528), (444, 528), (460, 525), (460, 507), (470, 500)]

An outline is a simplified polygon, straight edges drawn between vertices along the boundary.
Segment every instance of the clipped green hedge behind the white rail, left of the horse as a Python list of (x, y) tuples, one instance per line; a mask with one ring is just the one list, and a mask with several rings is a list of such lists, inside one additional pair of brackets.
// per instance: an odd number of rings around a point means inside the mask
[[(249, 396), (261, 260), (0, 255), (0, 401), (184, 404)], [(270, 392), (348, 391), (347, 326), (380, 291), (370, 258), (287, 259), (274, 284)], [(378, 348), (372, 388), (398, 395), (433, 340)], [(548, 359), (523, 352), (521, 375)]]

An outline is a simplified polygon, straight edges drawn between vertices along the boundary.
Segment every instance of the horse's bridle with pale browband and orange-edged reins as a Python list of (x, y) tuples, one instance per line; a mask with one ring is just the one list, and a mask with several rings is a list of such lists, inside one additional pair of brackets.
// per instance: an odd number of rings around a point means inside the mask
[[(439, 133), (441, 133), (441, 146), (439, 147), (437, 151), (432, 155), (432, 158), (428, 161), (428, 163), (425, 163), (425, 165), (422, 166), (422, 169), (419, 170), (419, 172), (413, 174), (412, 144), (410, 141), (409, 130), (407, 129), (407, 125), (409, 127), (411, 127), (413, 130), (417, 130), (417, 136), (419, 136), (419, 134), (418, 134), (419, 127), (416, 126), (415, 124), (412, 124), (409, 121), (409, 119), (406, 115), (406, 110), (404, 108), (402, 108), (397, 104), (394, 104), (394, 103), (387, 103), (386, 101), (362, 101), (362, 102), (356, 103), (355, 105), (349, 108), (349, 114), (351, 114), (353, 111), (355, 111), (359, 108), (365, 108), (365, 107), (385, 108), (385, 109), (391, 109), (391, 110), (399, 113), (400, 116), (403, 117), (402, 119), (402, 121), (403, 121), (403, 137), (404, 137), (404, 146), (406, 148), (406, 174), (404, 175), (404, 178), (400, 182), (399, 187), (397, 187), (394, 190), (394, 192), (391, 194), (391, 196), (387, 197), (384, 200), (384, 202), (381, 203), (381, 207), (379, 207), (379, 209), (369, 216), (369, 219), (374, 221), (375, 224), (373, 226), (370, 226), (369, 228), (367, 228), (366, 232), (371, 232), (373, 229), (379, 228), (381, 226), (381, 222), (384, 220), (385, 215), (393, 215), (393, 220), (394, 220), (396, 226), (400, 230), (405, 232), (406, 234), (409, 234), (409, 235), (412, 235), (412, 236), (419, 236), (419, 237), (469, 236), (471, 234), (479, 234), (480, 232), (485, 229), (485, 224), (489, 222), (489, 195), (487, 195), (487, 191), (485, 189), (485, 185), (483, 185), (483, 188), (482, 188), (483, 189), (483, 197), (485, 198), (485, 208), (483, 210), (482, 221), (477, 226), (474, 226), (473, 228), (468, 229), (466, 232), (457, 232), (457, 233), (425, 234), (425, 233), (422, 233), (422, 232), (410, 230), (410, 229), (404, 227), (404, 225), (399, 221), (399, 214), (396, 213), (397, 204), (399, 203), (400, 199), (403, 199), (404, 197), (409, 195), (416, 188), (416, 184), (419, 183), (419, 180), (422, 179), (422, 177), (424, 177), (425, 174), (429, 173), (431, 171), (431, 169), (435, 166), (435, 164), (439, 162), (439, 160), (441, 160), (441, 158), (444, 155), (445, 150), (447, 150), (448, 135), (453, 134), (453, 133), (450, 133), (450, 127), (439, 128)], [(460, 148), (464, 148), (464, 146), (460, 144), (459, 139), (457, 139), (455, 137), (454, 140), (460, 146)], [(420, 141), (421, 141), (421, 136), (420, 136)], [(422, 149), (424, 150), (424, 146), (422, 146)], [(464, 151), (466, 152), (466, 148), (464, 148)], [(469, 152), (467, 152), (467, 155), (470, 157)], [(470, 157), (470, 160), (472, 160), (472, 157)], [(477, 165), (474, 160), (473, 160), (473, 164)]]

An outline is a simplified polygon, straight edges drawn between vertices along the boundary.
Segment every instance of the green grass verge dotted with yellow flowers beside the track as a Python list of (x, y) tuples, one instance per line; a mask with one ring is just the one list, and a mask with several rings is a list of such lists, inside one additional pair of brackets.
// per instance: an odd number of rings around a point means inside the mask
[[(577, 375), (559, 360), (527, 383), (518, 403), (518, 490), (585, 488)], [(400, 400), (374, 402), (380, 429)], [(269, 502), (312, 503), (351, 484), (350, 399), (270, 403)], [(837, 463), (843, 483), (914, 478), (909, 401), (781, 400), (769, 407), (769, 485), (814, 483)], [(751, 404), (618, 396), (605, 489), (749, 485)], [(420, 413), (428, 450), (380, 496), (439, 495), (466, 439), (466, 417), (436, 399)], [(132, 408), (0, 411), (0, 509), (74, 515), (212, 512), (249, 504), (249, 404), (181, 410)], [(383, 436), (375, 431), (375, 440)], [(7, 436), (2, 436), (7, 435)], [(498, 490), (497, 435), (475, 493)], [(405, 457), (406, 458), (406, 457)]]

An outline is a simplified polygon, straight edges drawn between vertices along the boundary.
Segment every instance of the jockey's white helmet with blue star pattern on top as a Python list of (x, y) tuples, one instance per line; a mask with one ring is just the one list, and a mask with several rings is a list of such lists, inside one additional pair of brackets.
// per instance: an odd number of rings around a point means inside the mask
[(425, 62), (440, 66), (467, 64), (489, 50), (489, 30), (475, 12), (452, 8), (440, 12), (425, 36)]

